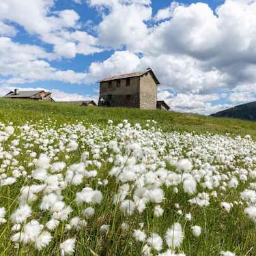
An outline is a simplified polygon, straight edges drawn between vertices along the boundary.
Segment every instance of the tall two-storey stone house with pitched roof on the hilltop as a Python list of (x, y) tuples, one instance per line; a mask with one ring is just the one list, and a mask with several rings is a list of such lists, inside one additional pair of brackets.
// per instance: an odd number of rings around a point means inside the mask
[(99, 81), (98, 106), (156, 109), (160, 84), (151, 68), (142, 72), (110, 76)]

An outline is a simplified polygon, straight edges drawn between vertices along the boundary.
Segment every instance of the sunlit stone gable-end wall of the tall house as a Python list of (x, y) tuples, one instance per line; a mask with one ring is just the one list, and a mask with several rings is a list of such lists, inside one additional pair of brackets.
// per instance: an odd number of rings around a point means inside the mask
[(140, 109), (156, 109), (157, 85), (150, 72), (141, 76)]

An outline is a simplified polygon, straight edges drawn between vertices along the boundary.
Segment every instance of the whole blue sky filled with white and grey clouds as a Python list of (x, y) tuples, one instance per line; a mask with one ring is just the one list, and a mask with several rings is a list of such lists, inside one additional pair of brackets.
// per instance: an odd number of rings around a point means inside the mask
[(152, 68), (172, 111), (252, 102), (255, 16), (255, 0), (0, 0), (0, 96), (98, 102), (100, 79)]

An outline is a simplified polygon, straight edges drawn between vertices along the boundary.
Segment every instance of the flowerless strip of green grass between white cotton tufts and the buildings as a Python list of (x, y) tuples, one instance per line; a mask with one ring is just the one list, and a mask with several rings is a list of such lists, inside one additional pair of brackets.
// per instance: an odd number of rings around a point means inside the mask
[(145, 123), (147, 119), (154, 119), (165, 131), (195, 131), (219, 134), (228, 132), (240, 136), (250, 134), (251, 137), (256, 139), (256, 123), (239, 119), (187, 115), (159, 110), (85, 107), (58, 102), (0, 99), (0, 118), (2, 120), (22, 124), (27, 120), (37, 122), (40, 119), (45, 120), (47, 117), (61, 122), (88, 120), (96, 124), (106, 124), (108, 119), (113, 119), (115, 123), (124, 119), (128, 119), (132, 123)]

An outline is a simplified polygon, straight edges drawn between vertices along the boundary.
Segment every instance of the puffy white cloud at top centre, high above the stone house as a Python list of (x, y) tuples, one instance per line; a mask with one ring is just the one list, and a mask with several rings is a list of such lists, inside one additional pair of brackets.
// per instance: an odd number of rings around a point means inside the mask
[(102, 12), (102, 22), (96, 27), (99, 44), (117, 49), (126, 45), (136, 51), (147, 37), (145, 21), (152, 18), (150, 1), (90, 0), (89, 3), (109, 8), (107, 14)]

